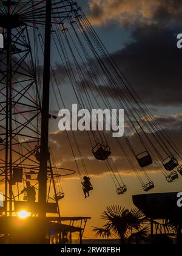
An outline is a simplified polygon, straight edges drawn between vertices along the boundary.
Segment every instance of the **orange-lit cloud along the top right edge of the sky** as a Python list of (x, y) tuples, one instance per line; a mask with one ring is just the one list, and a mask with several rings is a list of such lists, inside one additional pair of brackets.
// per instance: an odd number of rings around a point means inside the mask
[(113, 21), (131, 24), (175, 23), (182, 17), (180, 0), (90, 0), (90, 21), (101, 26)]

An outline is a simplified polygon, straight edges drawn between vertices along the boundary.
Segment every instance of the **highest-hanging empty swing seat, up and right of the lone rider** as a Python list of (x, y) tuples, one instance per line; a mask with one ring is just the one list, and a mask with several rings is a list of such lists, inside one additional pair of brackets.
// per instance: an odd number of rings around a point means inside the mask
[(107, 145), (102, 145), (100, 143), (96, 144), (96, 146), (92, 149), (92, 153), (97, 160), (104, 161), (111, 154), (110, 148)]

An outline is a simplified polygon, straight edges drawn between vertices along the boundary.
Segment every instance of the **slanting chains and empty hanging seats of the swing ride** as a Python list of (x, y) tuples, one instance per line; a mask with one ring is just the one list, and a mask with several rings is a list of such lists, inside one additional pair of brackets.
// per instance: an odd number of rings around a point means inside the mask
[[(68, 26), (66, 26), (66, 24)], [(59, 34), (61, 34), (61, 40), (59, 38)], [(144, 151), (141, 151), (140, 154), (136, 154), (136, 152), (134, 152), (133, 150), (133, 147), (130, 146), (130, 143), (125, 142), (125, 140), (128, 140), (126, 138), (127, 136), (124, 138), (123, 141), (121, 141), (121, 143), (123, 144), (124, 150), (124, 145), (127, 144), (127, 160), (131, 165), (133, 171), (135, 171), (136, 176), (140, 180), (143, 190), (146, 192), (152, 190), (154, 188), (154, 183), (152, 182), (152, 180), (149, 179), (149, 174), (147, 173), (145, 168), (152, 165), (153, 162), (157, 162), (157, 164), (155, 163), (155, 165), (157, 165), (158, 168), (161, 167), (158, 161), (159, 154), (157, 154), (157, 151), (161, 152), (161, 155), (163, 156), (164, 149), (166, 149), (167, 151), (166, 144), (168, 143), (166, 135), (164, 135), (160, 124), (158, 124), (157, 120), (155, 120), (155, 116), (152, 116), (150, 110), (141, 101), (140, 96), (138, 96), (135, 91), (129, 87), (126, 80), (122, 78), (123, 74), (118, 71), (115, 63), (113, 63), (112, 58), (110, 58), (109, 54), (107, 54), (106, 49), (104, 49), (103, 47), (103, 44), (100, 43), (98, 35), (96, 35), (95, 31), (87, 20), (87, 17), (84, 15), (81, 9), (78, 8), (72, 18), (66, 21), (64, 25), (61, 24), (61, 26), (56, 27), (56, 29), (53, 30), (52, 37), (56, 46), (55, 51), (58, 51), (58, 56), (64, 56), (63, 58), (60, 58), (62, 66), (70, 67), (70, 85), (73, 88), (76, 99), (78, 101), (78, 105), (81, 108), (95, 109), (100, 108), (100, 105), (104, 105), (104, 107), (106, 107), (107, 109), (122, 108), (126, 110), (125, 115), (127, 120), (127, 127), (129, 127), (130, 129), (128, 137), (130, 137), (130, 135), (133, 135), (133, 132), (136, 133), (136, 138), (139, 138), (137, 146), (138, 148), (141, 148), (141, 146), (143, 146)], [(86, 43), (86, 46), (84, 45), (84, 43)], [(59, 48), (60, 44), (61, 48)], [(75, 48), (78, 54), (73, 53), (73, 49)], [(64, 52), (64, 49), (67, 49), (67, 51)], [(103, 54), (102, 57), (99, 57), (101, 56), (100, 53)], [(106, 61), (103, 61), (103, 56), (104, 58), (106, 58)], [(93, 62), (93, 60), (95, 61)], [(76, 68), (72, 68), (72, 66), (70, 66), (70, 63), (72, 63), (72, 65)], [(90, 69), (88, 69), (88, 66)], [(101, 68), (103, 72), (99, 72)], [(92, 70), (92, 73), (89, 73), (90, 70)], [(93, 77), (96, 77), (95, 80), (93, 79), (92, 75)], [(92, 87), (89, 84), (89, 79), (87, 76), (90, 76), (90, 81), (92, 79)], [(56, 78), (55, 73), (53, 73), (53, 77)], [(81, 87), (78, 86), (78, 80), (81, 80), (81, 84), (84, 88), (84, 93), (83, 90), (81, 90)], [(101, 85), (103, 86), (99, 85), (100, 81), (102, 81)], [(107, 88), (108, 84), (113, 85), (113, 90), (104, 90), (104, 86), (106, 86)], [(90, 88), (95, 90), (90, 90)], [(59, 93), (56, 93), (56, 91), (54, 91), (54, 87), (53, 93), (55, 94), (56, 102), (58, 102), (58, 109), (60, 109), (59, 101), (62, 105), (65, 105), (65, 102), (64, 99), (61, 98), (61, 88), (57, 86), (57, 89)], [(115, 90), (117, 91), (116, 94), (114, 93)], [(100, 102), (95, 97), (94, 91), (98, 92)], [(115, 106), (113, 107), (112, 104), (114, 104)], [(158, 135), (157, 130), (160, 131), (160, 135)], [(92, 146), (93, 156), (96, 158), (96, 160), (103, 161), (105, 163), (108, 160), (110, 161), (111, 149), (109, 142), (107, 140), (103, 140), (104, 135), (100, 134), (101, 132), (96, 131), (93, 133), (95, 133), (95, 135), (93, 134), (93, 138), (91, 136), (92, 140), (90, 143)], [(98, 133), (99, 136), (102, 137), (101, 140), (98, 140), (98, 138), (96, 137), (96, 134)], [(70, 144), (75, 162), (81, 161), (83, 165), (81, 168), (82, 171), (80, 171), (79, 167), (77, 166), (77, 172), (79, 174), (79, 179), (81, 180), (83, 190), (88, 192), (92, 191), (92, 184), (88, 185), (87, 189), (83, 186), (83, 177), (87, 177), (89, 179), (89, 174), (86, 170), (83, 170), (86, 169), (86, 166), (84, 163), (83, 155), (81, 154), (81, 148), (79, 147), (79, 141), (76, 138), (74, 132), (71, 131), (69, 134), (70, 136), (72, 134), (73, 143), (75, 143), (76, 145), (76, 149), (74, 150), (74, 146), (72, 146), (72, 143)], [(93, 139), (95, 141), (95, 144), (93, 144)], [(89, 135), (88, 140), (90, 141)], [(172, 146), (170, 147), (169, 151), (173, 152)], [(170, 152), (167, 152), (167, 155), (172, 154), (170, 154)], [(174, 155), (176, 155), (175, 152)], [(135, 159), (133, 157), (135, 157)], [(37, 160), (39, 159), (39, 152), (36, 153), (36, 158)], [(157, 161), (155, 161), (155, 158), (157, 158)], [(162, 159), (163, 157), (160, 158), (160, 161)], [(165, 170), (174, 171), (175, 168), (178, 168), (178, 172), (182, 175), (182, 168), (178, 165), (178, 161), (175, 157), (167, 157), (162, 161), (162, 163)], [(76, 165), (78, 164), (76, 163)], [(124, 183), (122, 183), (122, 185), (121, 182), (118, 182), (118, 172), (116, 171), (116, 168), (110, 166), (108, 167), (113, 180), (116, 182), (116, 193), (126, 193), (126, 185), (124, 185)], [(138, 168), (141, 169), (138, 170)], [(147, 177), (146, 183), (143, 182), (143, 180), (141, 179), (141, 171), (143, 171), (144, 175)], [(172, 172), (170, 176), (168, 176), (168, 178), (166, 177), (166, 179), (168, 182), (176, 180), (177, 173)], [(62, 197), (64, 197), (64, 194), (55, 194), (55, 198), (56, 197), (58, 197), (57, 199), (62, 199)]]

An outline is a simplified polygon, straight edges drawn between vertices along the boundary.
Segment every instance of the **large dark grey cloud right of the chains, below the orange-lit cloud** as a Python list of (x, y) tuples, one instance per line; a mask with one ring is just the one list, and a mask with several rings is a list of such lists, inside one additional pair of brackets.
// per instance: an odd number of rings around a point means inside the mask
[(146, 104), (181, 104), (182, 51), (177, 49), (178, 32), (158, 25), (137, 27), (132, 43), (112, 54)]

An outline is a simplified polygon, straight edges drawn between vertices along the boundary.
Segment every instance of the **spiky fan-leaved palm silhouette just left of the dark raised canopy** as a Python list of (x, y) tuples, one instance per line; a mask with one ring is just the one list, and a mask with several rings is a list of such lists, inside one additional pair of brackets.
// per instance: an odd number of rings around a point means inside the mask
[(107, 222), (103, 227), (93, 227), (96, 237), (109, 238), (116, 235), (121, 244), (140, 243), (147, 238), (148, 227), (143, 227), (146, 217), (138, 209), (125, 209), (121, 206), (110, 206), (101, 215)]

